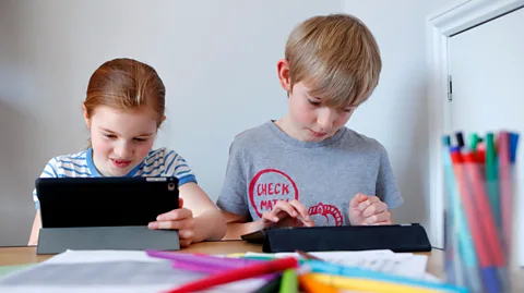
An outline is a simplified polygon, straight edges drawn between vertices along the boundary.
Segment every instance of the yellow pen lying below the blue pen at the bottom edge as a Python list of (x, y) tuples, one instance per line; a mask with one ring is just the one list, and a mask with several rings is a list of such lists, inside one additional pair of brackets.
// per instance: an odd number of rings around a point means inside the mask
[(374, 293), (442, 293), (441, 290), (428, 289), (422, 286), (412, 286), (398, 284), (393, 282), (385, 282), (379, 280), (369, 280), (361, 278), (348, 278), (325, 273), (311, 273), (319, 282), (323, 282), (340, 289), (355, 290), (359, 292), (374, 292)]

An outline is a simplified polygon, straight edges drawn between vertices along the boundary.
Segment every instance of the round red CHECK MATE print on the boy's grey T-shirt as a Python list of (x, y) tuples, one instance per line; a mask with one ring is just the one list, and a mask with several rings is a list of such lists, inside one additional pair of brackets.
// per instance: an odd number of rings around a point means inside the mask
[(276, 169), (265, 169), (258, 172), (249, 183), (249, 200), (262, 218), (264, 211), (271, 211), (277, 200), (298, 200), (297, 184), (293, 179)]

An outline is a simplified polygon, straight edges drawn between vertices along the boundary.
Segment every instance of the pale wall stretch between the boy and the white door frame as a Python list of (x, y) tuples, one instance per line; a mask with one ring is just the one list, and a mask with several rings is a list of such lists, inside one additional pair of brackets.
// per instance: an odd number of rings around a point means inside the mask
[[(429, 229), (428, 70), (426, 16), (453, 0), (343, 1), (344, 12), (362, 20), (381, 49), (383, 69), (372, 97), (347, 126), (381, 142), (389, 151), (405, 204), (396, 222)], [(388, 122), (383, 122), (383, 121)]]

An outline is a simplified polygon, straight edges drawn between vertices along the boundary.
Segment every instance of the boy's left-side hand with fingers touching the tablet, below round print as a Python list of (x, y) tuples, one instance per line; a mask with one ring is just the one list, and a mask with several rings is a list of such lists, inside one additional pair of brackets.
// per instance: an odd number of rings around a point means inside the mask
[(298, 200), (278, 200), (271, 211), (262, 215), (262, 225), (266, 227), (313, 227), (314, 223), (309, 217), (306, 207)]

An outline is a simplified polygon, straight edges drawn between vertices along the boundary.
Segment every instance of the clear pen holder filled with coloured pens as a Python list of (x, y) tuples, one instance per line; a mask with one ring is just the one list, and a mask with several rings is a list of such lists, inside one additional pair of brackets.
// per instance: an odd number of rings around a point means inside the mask
[(504, 154), (488, 163), (480, 155), (444, 149), (445, 281), (474, 293), (514, 292), (516, 168)]

